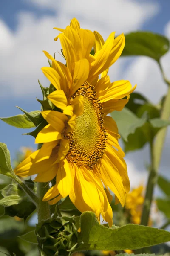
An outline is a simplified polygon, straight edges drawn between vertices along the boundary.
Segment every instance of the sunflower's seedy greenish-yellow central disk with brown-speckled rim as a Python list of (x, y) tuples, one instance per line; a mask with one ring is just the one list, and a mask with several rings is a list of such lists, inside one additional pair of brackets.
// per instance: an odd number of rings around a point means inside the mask
[(70, 150), (66, 158), (78, 166), (93, 168), (105, 149), (106, 132), (103, 128), (102, 105), (96, 98), (94, 87), (85, 82), (71, 97), (82, 95), (84, 111), (76, 118), (74, 130), (67, 134)]

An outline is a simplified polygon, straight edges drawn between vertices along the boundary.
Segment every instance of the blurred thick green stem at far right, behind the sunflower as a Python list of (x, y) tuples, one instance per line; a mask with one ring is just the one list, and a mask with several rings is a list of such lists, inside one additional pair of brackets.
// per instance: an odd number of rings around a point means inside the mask
[[(159, 64), (159, 67), (161, 68), (161, 64)], [(170, 81), (167, 81), (167, 79), (165, 78), (162, 68), (161, 68), (161, 73), (164, 78), (164, 81), (168, 85), (170, 85)], [(168, 88), (168, 92), (165, 97), (164, 104), (161, 110), (161, 119), (168, 120), (169, 118), (170, 118), (170, 87)], [(159, 170), (159, 165), (161, 161), (161, 154), (164, 146), (166, 132), (167, 132), (167, 128), (162, 128), (156, 135), (154, 144), (152, 143), (150, 146), (151, 168), (150, 168), (150, 174), (148, 177), (144, 207), (143, 207), (142, 218), (141, 218), (141, 225), (145, 225), (145, 226), (147, 226), (148, 220), (149, 220), (150, 206), (153, 199), (154, 187), (157, 183), (158, 170)]]

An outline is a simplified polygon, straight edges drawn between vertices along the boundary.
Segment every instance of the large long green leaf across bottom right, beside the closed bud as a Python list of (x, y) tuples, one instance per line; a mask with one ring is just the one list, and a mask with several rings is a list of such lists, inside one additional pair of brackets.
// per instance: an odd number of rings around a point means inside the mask
[(77, 250), (136, 250), (170, 241), (170, 232), (135, 224), (118, 228), (100, 225), (93, 212), (80, 218), (82, 244)]

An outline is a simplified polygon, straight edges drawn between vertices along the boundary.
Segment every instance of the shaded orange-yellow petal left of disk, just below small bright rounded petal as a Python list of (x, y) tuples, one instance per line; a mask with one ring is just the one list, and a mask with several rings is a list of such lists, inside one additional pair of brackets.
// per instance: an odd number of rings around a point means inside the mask
[(54, 110), (45, 110), (41, 112), (43, 118), (57, 131), (62, 131), (65, 127), (64, 122), (68, 120), (63, 113)]

